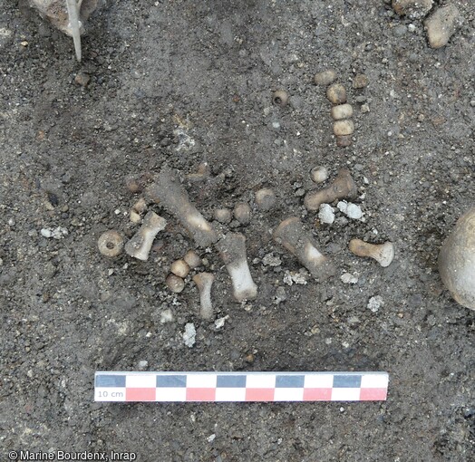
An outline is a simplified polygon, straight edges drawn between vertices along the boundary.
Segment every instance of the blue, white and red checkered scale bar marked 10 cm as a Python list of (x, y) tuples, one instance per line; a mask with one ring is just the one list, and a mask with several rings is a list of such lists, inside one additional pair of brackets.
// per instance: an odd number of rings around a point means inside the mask
[(94, 400), (113, 402), (384, 401), (387, 372), (95, 373)]

